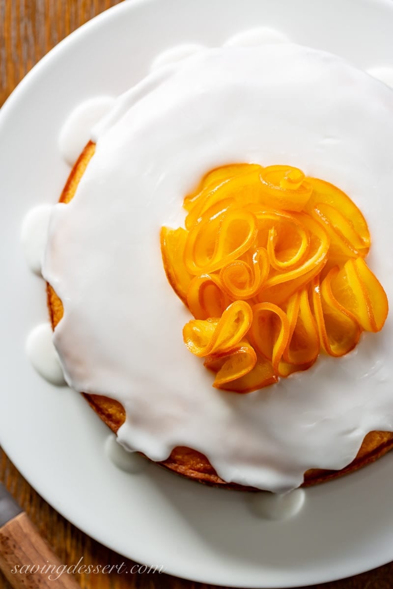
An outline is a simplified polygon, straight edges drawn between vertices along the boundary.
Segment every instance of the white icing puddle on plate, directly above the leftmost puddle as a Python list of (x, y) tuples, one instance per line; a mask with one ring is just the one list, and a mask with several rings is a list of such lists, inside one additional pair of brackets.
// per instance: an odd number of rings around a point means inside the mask
[(114, 102), (110, 96), (89, 98), (68, 115), (59, 138), (60, 153), (67, 164), (74, 165), (90, 140), (91, 127), (113, 108)]

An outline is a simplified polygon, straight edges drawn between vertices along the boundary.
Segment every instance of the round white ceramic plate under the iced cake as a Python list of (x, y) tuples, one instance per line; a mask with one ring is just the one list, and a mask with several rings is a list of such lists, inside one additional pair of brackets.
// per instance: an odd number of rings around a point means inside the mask
[(117, 95), (181, 42), (220, 45), (266, 25), (364, 69), (393, 65), (389, 0), (144, 0), (105, 12), (61, 42), (0, 112), (2, 325), (0, 442), (37, 491), (103, 544), (168, 573), (241, 587), (293, 587), (359, 573), (393, 558), (393, 453), (307, 491), (289, 521), (252, 515), (245, 494), (184, 481), (154, 465), (139, 475), (104, 454), (106, 426), (77, 393), (56, 389), (25, 356), (47, 318), (45, 288), (22, 257), (24, 214), (54, 203), (68, 168), (58, 136), (85, 98)]

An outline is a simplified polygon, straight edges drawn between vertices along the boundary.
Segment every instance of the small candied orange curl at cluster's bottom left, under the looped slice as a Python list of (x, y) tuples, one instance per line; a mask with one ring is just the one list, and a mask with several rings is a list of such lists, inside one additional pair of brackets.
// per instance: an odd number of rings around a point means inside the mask
[(206, 368), (216, 372), (213, 386), (217, 389), (224, 389), (227, 383), (242, 378), (255, 365), (255, 350), (246, 340), (228, 352), (207, 356), (204, 361)]

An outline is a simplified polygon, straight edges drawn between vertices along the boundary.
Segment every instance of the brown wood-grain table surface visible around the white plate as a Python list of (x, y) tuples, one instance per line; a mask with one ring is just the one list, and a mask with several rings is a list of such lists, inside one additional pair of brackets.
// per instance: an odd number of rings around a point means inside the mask
[[(0, 0), (0, 105), (16, 84), (45, 53), (71, 31), (121, 0)], [(164, 1), (164, 0), (163, 0)], [(179, 0), (180, 2), (181, 0)], [(195, 0), (197, 2), (197, 0)], [(328, 0), (326, 0), (328, 1)], [(0, 481), (47, 538), (61, 562), (121, 564), (124, 558), (91, 540), (66, 521), (30, 487), (0, 448)], [(372, 549), (372, 548), (371, 548)], [(132, 563), (127, 561), (131, 567)], [(120, 588), (117, 573), (79, 575), (82, 588)], [(208, 585), (183, 581), (166, 574), (133, 574), (127, 586), (140, 589), (208, 589)], [(0, 589), (9, 589), (0, 573)], [(345, 581), (315, 585), (314, 589), (392, 589), (393, 563)]]

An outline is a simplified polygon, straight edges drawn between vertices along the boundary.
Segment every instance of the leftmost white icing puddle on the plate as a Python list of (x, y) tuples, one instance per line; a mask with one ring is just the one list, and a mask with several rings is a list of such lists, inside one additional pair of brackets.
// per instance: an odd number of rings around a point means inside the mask
[(27, 265), (34, 274), (41, 274), (52, 208), (51, 204), (34, 207), (27, 213), (22, 223), (22, 248)]

